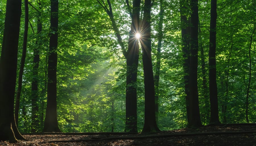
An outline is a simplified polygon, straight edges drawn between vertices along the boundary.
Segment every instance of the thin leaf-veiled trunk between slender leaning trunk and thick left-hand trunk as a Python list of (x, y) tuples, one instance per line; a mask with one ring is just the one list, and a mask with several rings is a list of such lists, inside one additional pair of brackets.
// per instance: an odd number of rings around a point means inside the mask
[[(41, 10), (41, 3), (38, 2), (39, 11)], [(41, 13), (38, 12), (37, 18), (37, 35), (40, 35), (42, 31), (42, 23), (41, 23)], [(41, 37), (39, 37), (41, 38)], [(39, 40), (39, 42), (38, 42)], [(38, 132), (39, 130), (39, 113), (38, 113), (38, 67), (39, 67), (39, 48), (41, 46), (40, 39), (36, 41), (36, 47), (34, 48), (34, 59), (33, 59), (33, 70), (32, 70), (32, 93), (31, 93), (31, 132)]]

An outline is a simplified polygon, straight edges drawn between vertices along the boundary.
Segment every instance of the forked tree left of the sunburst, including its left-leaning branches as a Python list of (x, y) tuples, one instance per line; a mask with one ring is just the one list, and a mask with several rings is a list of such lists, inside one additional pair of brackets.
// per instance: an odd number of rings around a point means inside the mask
[[(97, 0), (98, 1), (98, 0)], [(133, 7), (130, 8), (129, 1), (126, 0), (127, 8), (131, 16), (131, 30), (129, 33), (128, 40), (128, 51), (126, 51), (123, 40), (120, 35), (119, 28), (116, 25), (112, 5), (109, 0), (107, 0), (108, 7), (105, 5), (104, 1), (98, 3), (107, 12), (111, 22), (117, 41), (121, 47), (122, 53), (126, 59), (126, 120), (125, 120), (125, 132), (137, 132), (137, 72), (138, 72), (138, 61), (139, 61), (139, 44), (138, 40), (135, 38), (136, 33), (139, 33), (139, 20), (140, 20), (140, 0), (133, 0)], [(132, 11), (131, 11), (132, 9)]]

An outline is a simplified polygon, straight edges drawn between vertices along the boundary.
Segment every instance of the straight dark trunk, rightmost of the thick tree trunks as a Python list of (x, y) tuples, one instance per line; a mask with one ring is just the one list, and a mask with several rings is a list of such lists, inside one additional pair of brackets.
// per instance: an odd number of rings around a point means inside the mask
[(210, 124), (220, 124), (218, 110), (218, 92), (216, 82), (216, 19), (217, 0), (211, 0), (210, 45), (209, 45), (209, 91)]

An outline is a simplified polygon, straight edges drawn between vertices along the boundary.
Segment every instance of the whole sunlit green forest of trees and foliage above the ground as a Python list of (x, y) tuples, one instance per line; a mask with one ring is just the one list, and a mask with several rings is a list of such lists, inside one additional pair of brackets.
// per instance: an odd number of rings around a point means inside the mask
[(254, 0), (0, 1), (0, 140), (256, 123)]

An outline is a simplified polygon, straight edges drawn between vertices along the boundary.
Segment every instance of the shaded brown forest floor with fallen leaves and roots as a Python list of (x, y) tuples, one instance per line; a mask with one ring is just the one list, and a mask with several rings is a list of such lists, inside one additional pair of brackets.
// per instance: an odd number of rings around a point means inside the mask
[(154, 134), (127, 133), (54, 133), (24, 135), (29, 141), (0, 145), (9, 146), (82, 146), (82, 145), (215, 145), (256, 146), (256, 124), (227, 124), (204, 126), (197, 129), (184, 128)]

